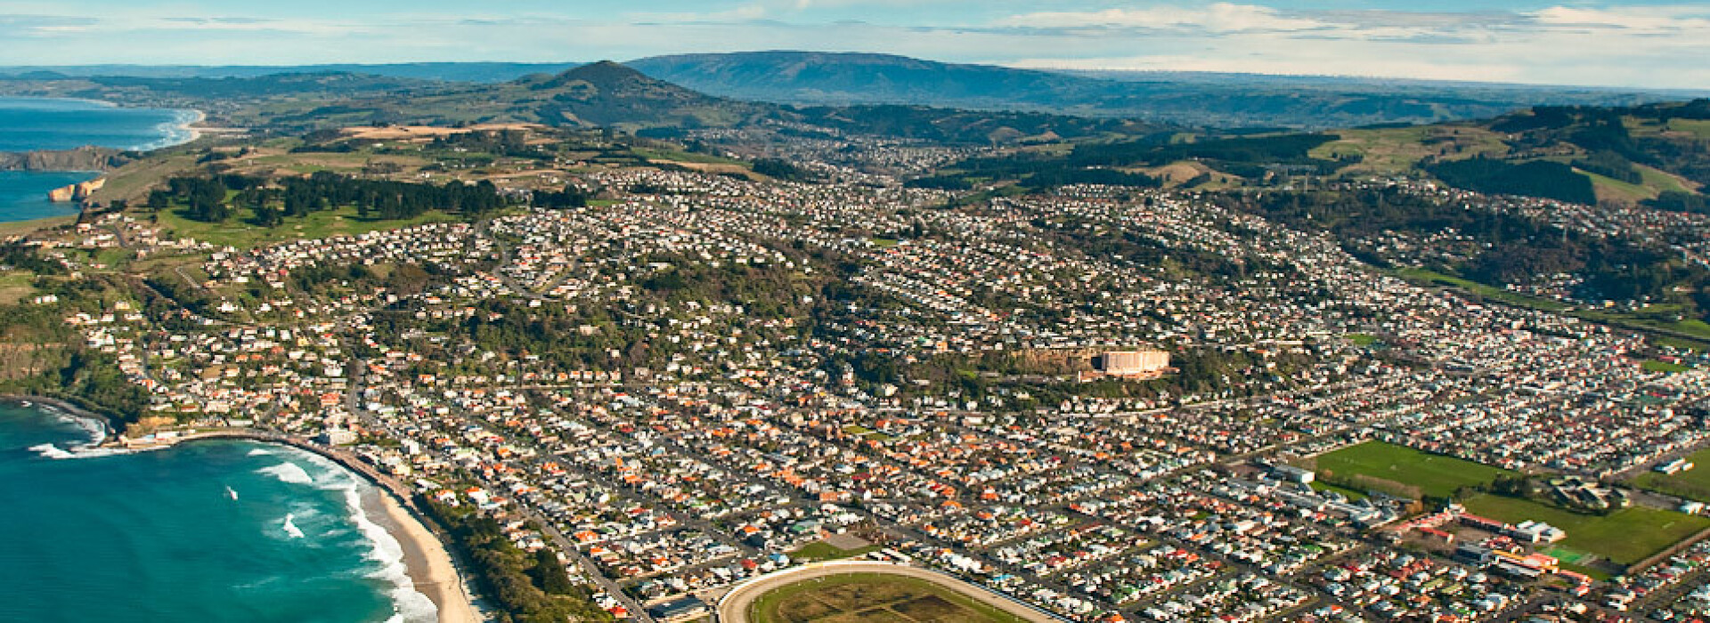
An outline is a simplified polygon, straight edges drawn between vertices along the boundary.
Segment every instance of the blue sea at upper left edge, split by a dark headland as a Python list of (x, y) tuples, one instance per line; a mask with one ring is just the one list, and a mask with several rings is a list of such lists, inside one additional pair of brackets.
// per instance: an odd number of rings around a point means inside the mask
[[(82, 99), (0, 97), (0, 152), (84, 145), (150, 150), (188, 142), (195, 111), (115, 108)], [(74, 215), (48, 191), (87, 181), (89, 172), (0, 171), (0, 222)]]

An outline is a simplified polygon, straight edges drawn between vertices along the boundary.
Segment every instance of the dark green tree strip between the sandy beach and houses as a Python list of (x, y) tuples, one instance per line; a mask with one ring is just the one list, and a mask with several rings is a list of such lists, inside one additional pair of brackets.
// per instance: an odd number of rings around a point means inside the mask
[(527, 553), (511, 544), (492, 517), (421, 498), (451, 531), (453, 544), (474, 563), (482, 592), (498, 606), (501, 623), (612, 621), (593, 596), (569, 580), (552, 550)]

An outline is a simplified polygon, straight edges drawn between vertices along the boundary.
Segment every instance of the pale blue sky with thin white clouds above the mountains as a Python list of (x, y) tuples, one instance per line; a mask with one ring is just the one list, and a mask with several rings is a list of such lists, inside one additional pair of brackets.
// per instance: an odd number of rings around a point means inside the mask
[(0, 0), (0, 65), (877, 51), (1029, 68), (1710, 89), (1710, 0)]

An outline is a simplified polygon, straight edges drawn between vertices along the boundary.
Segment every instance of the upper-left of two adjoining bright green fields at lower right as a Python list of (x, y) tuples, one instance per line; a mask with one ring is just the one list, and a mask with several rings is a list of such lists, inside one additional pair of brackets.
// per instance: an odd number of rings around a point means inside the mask
[(1448, 497), (1460, 486), (1484, 485), (1508, 469), (1483, 466), (1448, 456), (1419, 452), (1411, 447), (1365, 442), (1312, 459), (1312, 468), (1325, 478), (1375, 478), (1414, 486), (1423, 495)]

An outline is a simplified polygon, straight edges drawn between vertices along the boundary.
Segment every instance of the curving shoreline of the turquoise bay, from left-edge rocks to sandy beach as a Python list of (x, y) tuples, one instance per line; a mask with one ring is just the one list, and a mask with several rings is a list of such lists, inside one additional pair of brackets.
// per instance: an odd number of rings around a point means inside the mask
[(103, 439), (87, 444), (86, 447), (152, 451), (198, 440), (248, 440), (286, 445), (325, 457), (345, 471), (351, 471), (359, 481), (371, 486), (369, 492), (361, 493), (361, 510), (368, 521), (378, 524), (386, 531), (386, 534), (398, 541), (398, 546), (404, 550), (405, 575), (410, 579), (417, 592), (424, 594), (428, 601), (433, 601), (438, 623), (484, 621), (481, 613), (475, 609), (474, 596), (469, 592), (467, 572), (458, 565), (457, 558), (451, 556), (450, 546), (434, 529), (429, 527), (429, 521), (412, 510), (414, 502), (409, 498), (407, 490), (400, 490), (400, 483), (373, 471), (354, 456), (347, 456), (303, 439), (260, 430), (214, 430), (174, 437), (154, 444), (135, 444), (120, 437), (106, 416), (84, 410), (65, 399), (50, 396), (0, 394), (0, 403), (17, 406), (31, 403), (27, 408), (50, 406), (67, 416), (101, 425)]

